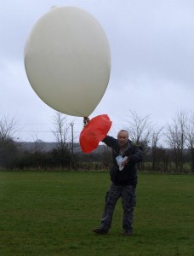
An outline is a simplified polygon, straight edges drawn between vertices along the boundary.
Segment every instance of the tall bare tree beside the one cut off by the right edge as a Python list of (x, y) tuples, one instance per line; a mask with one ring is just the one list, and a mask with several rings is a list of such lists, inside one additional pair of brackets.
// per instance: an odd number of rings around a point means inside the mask
[(186, 131), (187, 113), (179, 111), (165, 131), (166, 142), (173, 150), (175, 168), (178, 172), (183, 172)]

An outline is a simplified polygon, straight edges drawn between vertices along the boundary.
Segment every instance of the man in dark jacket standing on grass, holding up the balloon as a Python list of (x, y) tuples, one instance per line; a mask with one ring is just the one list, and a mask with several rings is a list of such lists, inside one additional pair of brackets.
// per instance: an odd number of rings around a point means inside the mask
[(102, 142), (106, 143), (112, 150), (111, 186), (106, 193), (106, 205), (101, 218), (101, 226), (93, 231), (98, 234), (108, 233), (117, 200), (121, 197), (123, 204), (123, 235), (131, 236), (134, 207), (136, 205), (135, 190), (138, 179), (136, 164), (142, 161), (143, 151), (128, 139), (128, 131), (125, 130), (118, 132), (117, 139), (106, 136)]

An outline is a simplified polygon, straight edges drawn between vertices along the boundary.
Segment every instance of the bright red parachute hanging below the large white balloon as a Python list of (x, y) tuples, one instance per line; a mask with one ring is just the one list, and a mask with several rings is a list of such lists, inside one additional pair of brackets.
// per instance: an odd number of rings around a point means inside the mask
[(84, 153), (91, 153), (106, 137), (111, 128), (111, 120), (107, 114), (91, 119), (80, 133), (79, 142)]

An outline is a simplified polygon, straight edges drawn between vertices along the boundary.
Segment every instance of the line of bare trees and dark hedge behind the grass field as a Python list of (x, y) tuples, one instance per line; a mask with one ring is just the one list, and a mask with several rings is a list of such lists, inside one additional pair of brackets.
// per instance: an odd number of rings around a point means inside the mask
[[(29, 150), (17, 141), (15, 119), (0, 119), (0, 168), (41, 170), (108, 170), (111, 166), (111, 150), (100, 145), (92, 154), (83, 154), (74, 143), (72, 125), (66, 115), (54, 114), (55, 146), (44, 150), (44, 142), (36, 139)], [(130, 111), (124, 127), (130, 140), (140, 145), (144, 160), (140, 172), (194, 172), (194, 113), (178, 111), (171, 122), (157, 127), (149, 115), (141, 117)]]

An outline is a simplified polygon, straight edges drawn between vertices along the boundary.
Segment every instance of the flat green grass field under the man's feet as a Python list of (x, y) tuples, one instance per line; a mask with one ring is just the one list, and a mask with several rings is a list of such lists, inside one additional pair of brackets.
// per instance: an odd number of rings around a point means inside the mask
[(100, 225), (107, 172), (0, 172), (0, 255), (194, 255), (194, 175), (140, 174), (134, 235), (118, 201)]

